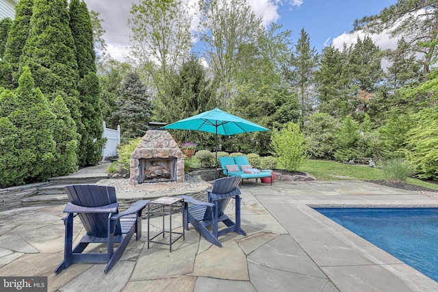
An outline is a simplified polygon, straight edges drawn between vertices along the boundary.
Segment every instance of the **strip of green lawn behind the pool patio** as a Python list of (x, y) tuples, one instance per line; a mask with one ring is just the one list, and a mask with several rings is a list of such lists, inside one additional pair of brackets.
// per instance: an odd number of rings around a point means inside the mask
[[(304, 165), (298, 168), (299, 172), (307, 172), (315, 176), (318, 181), (376, 181), (385, 180), (383, 170), (370, 168), (363, 165), (350, 165), (335, 161), (307, 160)], [(438, 189), (438, 185), (427, 183), (415, 178), (408, 178), (407, 183), (421, 185), (430, 189)]]

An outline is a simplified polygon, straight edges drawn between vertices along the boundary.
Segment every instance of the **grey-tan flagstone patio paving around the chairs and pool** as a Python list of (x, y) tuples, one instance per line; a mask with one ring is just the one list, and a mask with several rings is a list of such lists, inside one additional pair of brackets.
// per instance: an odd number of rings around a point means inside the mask
[[(82, 175), (99, 176), (102, 169)], [(241, 189), (246, 237), (224, 235), (218, 248), (190, 227), (172, 252), (156, 243), (148, 249), (143, 220), (142, 239), (129, 243), (108, 274), (105, 264), (92, 263), (53, 273), (63, 258), (63, 205), (0, 212), (0, 275), (47, 276), (48, 291), (438, 291), (437, 282), (308, 206), (438, 207), (436, 198), (354, 181), (245, 182)], [(227, 213), (233, 212), (230, 204)], [(161, 228), (160, 220), (151, 220), (151, 235)], [(180, 214), (172, 225), (182, 230)], [(74, 230), (77, 242), (85, 232), (78, 218)], [(105, 252), (105, 245), (87, 250)]]

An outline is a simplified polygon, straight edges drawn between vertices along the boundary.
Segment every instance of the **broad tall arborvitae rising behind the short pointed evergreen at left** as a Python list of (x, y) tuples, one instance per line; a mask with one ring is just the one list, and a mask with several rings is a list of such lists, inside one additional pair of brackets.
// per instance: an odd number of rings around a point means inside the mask
[(20, 66), (29, 66), (36, 86), (44, 94), (77, 94), (75, 42), (69, 19), (66, 0), (34, 0)]

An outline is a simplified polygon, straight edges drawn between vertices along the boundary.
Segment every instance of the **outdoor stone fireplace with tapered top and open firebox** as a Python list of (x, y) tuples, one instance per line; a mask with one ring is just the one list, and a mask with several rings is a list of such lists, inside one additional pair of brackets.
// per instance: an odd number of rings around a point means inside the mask
[(131, 154), (129, 184), (184, 181), (184, 155), (168, 131), (150, 130)]

